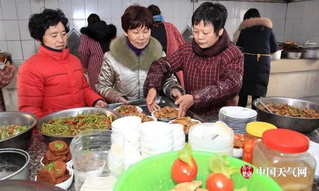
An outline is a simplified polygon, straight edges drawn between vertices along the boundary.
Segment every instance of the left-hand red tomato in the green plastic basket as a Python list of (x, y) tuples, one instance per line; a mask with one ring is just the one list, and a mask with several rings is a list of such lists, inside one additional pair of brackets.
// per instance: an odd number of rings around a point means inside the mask
[(197, 164), (194, 158), (191, 158), (192, 167), (180, 159), (176, 159), (171, 167), (171, 178), (176, 183), (191, 182), (197, 174)]

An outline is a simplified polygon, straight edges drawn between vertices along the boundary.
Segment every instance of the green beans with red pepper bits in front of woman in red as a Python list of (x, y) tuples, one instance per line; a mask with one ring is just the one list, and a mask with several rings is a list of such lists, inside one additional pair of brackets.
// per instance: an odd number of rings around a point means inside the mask
[(75, 117), (57, 117), (43, 123), (40, 130), (48, 135), (73, 136), (91, 129), (109, 129), (112, 116), (102, 113), (78, 114)]

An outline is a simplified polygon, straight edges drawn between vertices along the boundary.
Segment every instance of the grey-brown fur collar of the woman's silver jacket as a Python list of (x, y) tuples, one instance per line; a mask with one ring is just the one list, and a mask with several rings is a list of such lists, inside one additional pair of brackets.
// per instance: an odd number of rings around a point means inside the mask
[(149, 44), (141, 54), (139, 58), (140, 63), (135, 52), (127, 44), (124, 35), (119, 36), (111, 42), (110, 51), (117, 62), (132, 70), (137, 70), (140, 67), (140, 69), (148, 71), (151, 64), (163, 56), (160, 42), (153, 37), (150, 38)]

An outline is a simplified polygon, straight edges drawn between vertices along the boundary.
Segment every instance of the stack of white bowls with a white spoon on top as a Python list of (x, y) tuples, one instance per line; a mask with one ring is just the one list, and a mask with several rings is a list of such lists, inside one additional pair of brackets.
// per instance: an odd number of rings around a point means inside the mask
[(188, 143), (192, 150), (232, 156), (234, 131), (221, 121), (197, 124), (189, 129)]

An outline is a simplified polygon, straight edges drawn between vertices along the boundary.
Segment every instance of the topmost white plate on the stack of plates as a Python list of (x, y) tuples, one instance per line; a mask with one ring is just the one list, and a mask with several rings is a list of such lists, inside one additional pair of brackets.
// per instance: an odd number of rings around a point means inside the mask
[(257, 112), (255, 110), (239, 106), (222, 107), (219, 112), (227, 117), (235, 119), (247, 119), (257, 116)]

